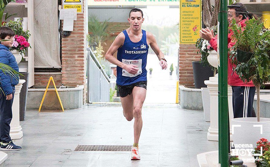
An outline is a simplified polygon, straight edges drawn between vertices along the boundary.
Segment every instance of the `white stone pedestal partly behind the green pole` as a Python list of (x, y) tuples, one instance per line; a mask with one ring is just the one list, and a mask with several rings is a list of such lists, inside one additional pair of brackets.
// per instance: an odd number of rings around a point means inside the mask
[[(218, 75), (218, 74), (217, 74)], [(207, 139), (211, 141), (218, 141), (218, 77), (210, 77), (209, 80), (205, 80), (204, 84), (207, 85), (210, 94), (210, 127), (207, 133)], [(232, 89), (228, 85), (228, 106), (229, 106), (229, 118), (233, 118), (232, 110)], [(231, 127), (231, 122), (230, 122)], [(230, 139), (232, 141), (231, 128)]]

